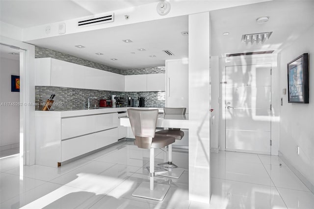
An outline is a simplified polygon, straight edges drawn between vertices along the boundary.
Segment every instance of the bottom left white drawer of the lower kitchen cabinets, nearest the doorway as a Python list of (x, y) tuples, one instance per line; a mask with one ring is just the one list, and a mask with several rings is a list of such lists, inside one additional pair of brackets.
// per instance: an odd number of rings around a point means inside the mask
[(61, 141), (61, 161), (95, 150), (95, 133)]

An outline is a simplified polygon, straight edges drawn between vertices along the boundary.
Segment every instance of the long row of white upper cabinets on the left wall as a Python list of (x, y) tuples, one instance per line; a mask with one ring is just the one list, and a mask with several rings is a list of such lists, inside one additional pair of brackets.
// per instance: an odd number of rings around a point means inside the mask
[(71, 62), (35, 59), (35, 85), (124, 91), (124, 76)]

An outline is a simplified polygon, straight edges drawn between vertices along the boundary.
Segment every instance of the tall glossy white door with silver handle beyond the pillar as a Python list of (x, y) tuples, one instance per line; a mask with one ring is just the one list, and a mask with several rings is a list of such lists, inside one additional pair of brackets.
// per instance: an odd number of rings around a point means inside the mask
[(226, 150), (271, 154), (271, 65), (226, 67)]

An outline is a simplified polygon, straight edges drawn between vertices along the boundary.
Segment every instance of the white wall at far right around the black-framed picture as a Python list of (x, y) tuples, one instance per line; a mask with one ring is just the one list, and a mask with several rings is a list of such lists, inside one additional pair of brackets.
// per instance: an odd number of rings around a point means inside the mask
[[(280, 147), (283, 154), (308, 181), (314, 185), (314, 26), (281, 52), (281, 90), (288, 88), (287, 63), (309, 53), (310, 102), (288, 104), (288, 91), (280, 108)], [(297, 155), (300, 146), (300, 155)]]

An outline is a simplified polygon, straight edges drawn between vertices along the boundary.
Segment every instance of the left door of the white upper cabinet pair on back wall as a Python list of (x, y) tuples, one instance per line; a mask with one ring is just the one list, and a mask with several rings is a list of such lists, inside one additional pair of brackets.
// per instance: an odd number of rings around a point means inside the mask
[(124, 77), (125, 91), (146, 91), (147, 75), (130, 75)]

